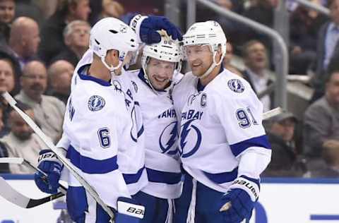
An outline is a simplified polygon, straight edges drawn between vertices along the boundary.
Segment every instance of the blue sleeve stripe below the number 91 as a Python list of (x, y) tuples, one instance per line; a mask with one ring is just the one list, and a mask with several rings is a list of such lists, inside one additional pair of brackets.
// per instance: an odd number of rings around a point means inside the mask
[(237, 157), (240, 153), (249, 147), (264, 147), (270, 150), (270, 143), (268, 143), (267, 135), (261, 135), (258, 137), (250, 138), (239, 143), (230, 145), (234, 157)]

